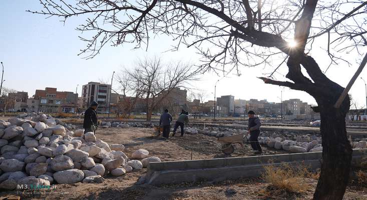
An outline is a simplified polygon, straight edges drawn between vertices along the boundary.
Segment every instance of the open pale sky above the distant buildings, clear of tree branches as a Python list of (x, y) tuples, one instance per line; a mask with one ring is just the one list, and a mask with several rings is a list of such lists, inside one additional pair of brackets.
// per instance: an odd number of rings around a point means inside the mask
[[(89, 81), (99, 81), (100, 78), (111, 80), (113, 71), (121, 70), (122, 66), (132, 67), (134, 60), (144, 56), (156, 55), (167, 61), (199, 63), (200, 57), (194, 48), (184, 47), (178, 52), (163, 53), (170, 49), (172, 44), (172, 38), (168, 36), (156, 36), (150, 41), (148, 51), (132, 50), (133, 45), (130, 44), (119, 47), (106, 46), (95, 58), (83, 59), (77, 54), (85, 43), (78, 38), (81, 33), (75, 30), (75, 27), (82, 24), (85, 18), (69, 18), (64, 25), (59, 21), (60, 18), (45, 19), (44, 15), (25, 11), (40, 8), (38, 0), (2, 0), (0, 7), (0, 60), (4, 62), (6, 79), (3, 86), (28, 91), (30, 96), (36, 89), (45, 87), (75, 92), (77, 84), (78, 93), (81, 93), (81, 85)], [(317, 45), (316, 43), (311, 55), (320, 66), (327, 66), (325, 53), (317, 50)], [(345, 86), (357, 66), (355, 61), (352, 67), (340, 64), (329, 69), (326, 75)], [(217, 96), (232, 94), (235, 98), (258, 98), (279, 102), (277, 97), (280, 96), (280, 87), (265, 84), (256, 78), (269, 71), (271, 69), (242, 68), (242, 76), (232, 75), (218, 83)], [(286, 68), (282, 67), (281, 72), (285, 74)], [(361, 76), (367, 79), (365, 70)], [(214, 98), (211, 92), (214, 92), (214, 83), (218, 78), (220, 77), (213, 74), (205, 74), (195, 83), (199, 85), (199, 89), (207, 91), (207, 100)], [(117, 88), (117, 82), (114, 85)], [(359, 77), (349, 93), (358, 101), (358, 105), (365, 105), (364, 83)], [(307, 93), (285, 88), (283, 99), (288, 98), (300, 98), (315, 103)]]

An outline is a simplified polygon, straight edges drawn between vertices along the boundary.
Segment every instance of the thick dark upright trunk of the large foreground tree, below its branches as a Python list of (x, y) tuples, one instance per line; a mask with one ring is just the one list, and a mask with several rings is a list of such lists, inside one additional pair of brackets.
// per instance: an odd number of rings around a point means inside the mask
[(330, 98), (325, 101), (318, 102), (321, 116), (322, 164), (313, 198), (337, 200), (343, 198), (352, 156), (352, 148), (345, 129), (349, 99), (347, 97), (344, 106), (340, 108), (334, 108), (332, 104), (334, 101)]

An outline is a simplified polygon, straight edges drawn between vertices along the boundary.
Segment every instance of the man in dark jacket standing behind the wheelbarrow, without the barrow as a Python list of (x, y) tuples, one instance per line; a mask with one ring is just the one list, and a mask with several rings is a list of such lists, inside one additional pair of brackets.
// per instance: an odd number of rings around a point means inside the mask
[(251, 143), (252, 151), (255, 153), (262, 153), (261, 146), (259, 144), (259, 140), (257, 139), (260, 135), (260, 126), (261, 121), (259, 117), (255, 116), (255, 112), (250, 110), (248, 111), (248, 126), (247, 130), (250, 134), (249, 141)]

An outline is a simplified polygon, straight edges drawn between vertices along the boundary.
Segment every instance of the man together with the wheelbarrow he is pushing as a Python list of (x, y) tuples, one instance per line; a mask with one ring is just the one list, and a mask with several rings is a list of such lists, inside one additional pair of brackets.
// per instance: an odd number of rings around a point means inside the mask
[(225, 154), (231, 154), (234, 151), (233, 144), (239, 143), (243, 147), (244, 139), (247, 140), (247, 135), (250, 134), (248, 142), (251, 143), (252, 151), (254, 153), (262, 153), (261, 146), (257, 138), (260, 136), (260, 126), (261, 121), (259, 117), (255, 115), (255, 112), (250, 110), (248, 113), (248, 126), (247, 133), (241, 133), (231, 136), (219, 137), (218, 142), (223, 143), (221, 145), (221, 150)]

